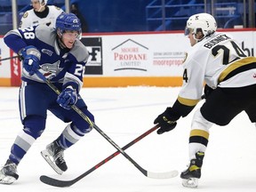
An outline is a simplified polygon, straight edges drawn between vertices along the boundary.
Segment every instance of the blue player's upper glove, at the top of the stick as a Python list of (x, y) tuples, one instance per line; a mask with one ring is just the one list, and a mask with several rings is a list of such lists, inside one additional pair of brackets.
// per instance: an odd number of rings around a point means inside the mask
[(41, 53), (35, 46), (29, 45), (20, 50), (20, 56), (23, 59), (23, 68), (28, 71), (30, 76), (33, 76), (39, 68), (39, 60)]

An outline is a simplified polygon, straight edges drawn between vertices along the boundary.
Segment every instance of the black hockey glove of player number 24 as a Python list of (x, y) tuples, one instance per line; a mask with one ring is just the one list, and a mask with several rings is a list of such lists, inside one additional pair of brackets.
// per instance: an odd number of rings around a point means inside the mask
[(157, 116), (154, 121), (154, 124), (160, 125), (160, 128), (157, 130), (157, 134), (169, 132), (174, 129), (177, 125), (176, 120), (178, 120), (179, 117), (177, 118), (177, 115), (172, 108), (166, 108), (164, 113)]

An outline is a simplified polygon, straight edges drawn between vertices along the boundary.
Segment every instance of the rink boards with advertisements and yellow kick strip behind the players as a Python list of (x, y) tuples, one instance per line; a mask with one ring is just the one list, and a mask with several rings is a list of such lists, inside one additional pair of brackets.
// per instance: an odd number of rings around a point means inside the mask
[[(225, 31), (234, 36), (248, 56), (256, 55), (256, 31)], [(180, 32), (84, 34), (81, 39), (90, 54), (84, 71), (84, 86), (129, 85), (180, 86), (182, 62), (190, 49), (188, 36)], [(15, 54), (0, 38), (0, 57)], [(20, 84), (20, 60), (0, 62), (0, 85)]]

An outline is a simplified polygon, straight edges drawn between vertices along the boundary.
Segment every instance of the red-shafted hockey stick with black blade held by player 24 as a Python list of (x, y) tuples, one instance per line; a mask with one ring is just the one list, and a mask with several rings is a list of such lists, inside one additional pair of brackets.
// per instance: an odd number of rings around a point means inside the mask
[[(137, 137), (135, 140), (132, 140), (131, 142), (126, 144), (122, 149), (126, 150), (127, 148), (132, 147), (132, 145), (134, 145), (136, 142), (138, 142), (139, 140), (142, 140), (143, 138), (145, 138), (151, 132), (156, 131), (156, 129), (158, 129), (158, 127), (159, 127), (159, 125), (156, 124), (154, 127), (149, 129), (147, 132), (144, 132), (139, 137)], [(88, 171), (86, 171), (83, 174), (79, 175), (74, 180), (55, 180), (55, 179), (52, 179), (52, 178), (44, 176), (44, 175), (40, 177), (40, 180), (42, 182), (44, 182), (45, 184), (48, 184), (48, 185), (51, 185), (51, 186), (55, 186), (55, 187), (60, 187), (60, 188), (69, 187), (69, 186), (75, 184), (78, 180), (82, 180), (85, 176), (87, 176), (91, 172), (93, 172), (96, 169), (98, 169), (101, 165), (108, 163), (108, 161), (110, 161), (115, 156), (118, 156), (119, 154), (120, 154), (120, 151), (117, 150), (115, 153), (111, 154), (110, 156), (108, 156), (104, 160), (100, 161), (99, 164), (95, 164), (91, 169), (89, 169)]]

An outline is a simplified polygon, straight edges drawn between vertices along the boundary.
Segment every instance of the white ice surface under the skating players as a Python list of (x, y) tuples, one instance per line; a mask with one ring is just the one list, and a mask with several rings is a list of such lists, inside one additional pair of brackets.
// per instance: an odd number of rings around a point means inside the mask
[[(96, 124), (119, 147), (154, 126), (156, 116), (172, 106), (180, 88), (128, 87), (84, 88), (81, 92)], [(0, 164), (9, 156), (12, 142), (21, 131), (18, 88), (0, 88)], [(40, 100), (38, 100), (40, 102)], [(196, 108), (202, 105), (203, 101)], [(152, 132), (125, 150), (140, 166), (151, 172), (178, 170), (179, 176), (167, 180), (148, 179), (124, 156), (119, 155), (100, 166), (69, 188), (45, 185), (40, 175), (72, 180), (111, 155), (116, 149), (93, 130), (65, 151), (68, 171), (57, 175), (44, 161), (40, 151), (55, 140), (65, 124), (48, 114), (46, 129), (29, 149), (18, 167), (20, 179), (12, 185), (0, 185), (1, 192), (241, 192), (256, 189), (256, 128), (244, 113), (226, 127), (214, 125), (204, 157), (202, 179), (197, 189), (181, 186), (180, 172), (188, 164), (188, 135), (191, 118), (180, 119), (172, 132)]]

